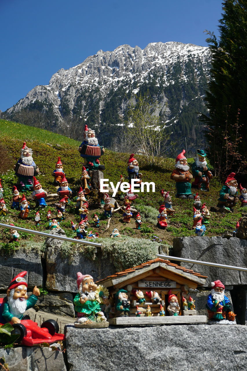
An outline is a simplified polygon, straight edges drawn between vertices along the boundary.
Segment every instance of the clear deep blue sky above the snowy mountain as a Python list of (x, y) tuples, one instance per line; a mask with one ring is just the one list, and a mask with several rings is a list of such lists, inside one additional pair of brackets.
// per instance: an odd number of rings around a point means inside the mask
[(0, 109), (99, 49), (159, 41), (207, 46), (203, 31), (218, 35), (221, 13), (220, 0), (0, 0)]

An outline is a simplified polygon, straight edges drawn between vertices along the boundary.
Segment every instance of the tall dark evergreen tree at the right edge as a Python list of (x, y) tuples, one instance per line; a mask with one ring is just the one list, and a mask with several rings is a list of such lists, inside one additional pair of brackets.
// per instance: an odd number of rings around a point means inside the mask
[(208, 32), (212, 68), (205, 93), (208, 116), (201, 120), (217, 175), (234, 171), (241, 179), (247, 171), (247, 1), (225, 0), (223, 11), (219, 40)]

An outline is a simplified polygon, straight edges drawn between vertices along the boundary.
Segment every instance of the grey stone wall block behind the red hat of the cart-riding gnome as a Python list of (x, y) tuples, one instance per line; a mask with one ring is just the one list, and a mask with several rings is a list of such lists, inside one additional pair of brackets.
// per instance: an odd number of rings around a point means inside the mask
[(43, 269), (41, 265), (40, 254), (34, 249), (25, 252), (23, 249), (17, 250), (13, 255), (0, 255), (0, 289), (7, 289), (10, 281), (18, 273), (27, 270), (28, 287), (33, 288), (35, 285), (42, 286)]

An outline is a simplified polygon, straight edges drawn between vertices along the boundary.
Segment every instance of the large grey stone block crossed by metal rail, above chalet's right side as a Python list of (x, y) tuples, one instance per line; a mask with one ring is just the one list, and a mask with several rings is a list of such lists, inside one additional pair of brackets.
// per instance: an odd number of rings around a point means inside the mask
[[(246, 268), (247, 240), (222, 237), (178, 237), (173, 240), (172, 255), (185, 259)], [(247, 284), (246, 272), (184, 262), (181, 262), (180, 265), (208, 276), (205, 287), (211, 287), (210, 283), (217, 279), (220, 279), (224, 285)]]

